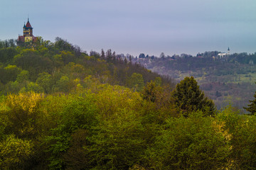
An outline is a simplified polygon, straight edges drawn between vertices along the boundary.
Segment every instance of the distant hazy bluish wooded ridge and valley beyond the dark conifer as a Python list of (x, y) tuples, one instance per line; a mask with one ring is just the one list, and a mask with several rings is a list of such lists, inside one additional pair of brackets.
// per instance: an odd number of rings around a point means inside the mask
[(229, 104), (242, 109), (256, 91), (256, 52), (233, 53), (223, 57), (218, 56), (219, 53), (204, 52), (196, 56), (166, 56), (161, 53), (160, 57), (141, 54), (133, 61), (152, 72), (169, 75), (176, 81), (193, 76), (218, 109)]

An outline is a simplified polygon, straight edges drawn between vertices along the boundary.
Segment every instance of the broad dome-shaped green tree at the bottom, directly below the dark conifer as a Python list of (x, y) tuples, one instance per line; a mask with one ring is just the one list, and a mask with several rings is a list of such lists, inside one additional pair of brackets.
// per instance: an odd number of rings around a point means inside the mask
[(212, 120), (200, 111), (166, 120), (148, 150), (151, 169), (225, 169), (231, 147)]

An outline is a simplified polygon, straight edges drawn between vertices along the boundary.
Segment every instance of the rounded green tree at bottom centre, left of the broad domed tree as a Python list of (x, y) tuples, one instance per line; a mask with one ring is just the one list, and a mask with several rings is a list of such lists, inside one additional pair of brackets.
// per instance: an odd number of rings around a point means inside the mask
[(142, 159), (146, 148), (143, 128), (135, 113), (119, 111), (113, 120), (101, 120), (97, 134), (90, 138), (96, 169), (129, 169)]

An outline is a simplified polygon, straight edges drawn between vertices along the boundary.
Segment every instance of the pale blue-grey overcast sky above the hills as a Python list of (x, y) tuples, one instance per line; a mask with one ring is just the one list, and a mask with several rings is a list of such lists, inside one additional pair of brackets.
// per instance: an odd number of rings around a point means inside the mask
[(0, 40), (60, 37), (82, 50), (159, 56), (256, 52), (255, 0), (0, 0)]

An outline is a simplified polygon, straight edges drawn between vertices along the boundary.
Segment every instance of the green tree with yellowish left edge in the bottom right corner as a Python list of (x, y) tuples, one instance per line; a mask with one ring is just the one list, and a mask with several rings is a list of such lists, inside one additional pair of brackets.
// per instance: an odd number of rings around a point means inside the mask
[(241, 115), (240, 111), (228, 106), (218, 114), (223, 135), (230, 143), (229, 169), (255, 169), (256, 164), (256, 117)]

